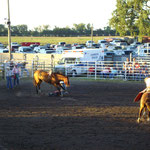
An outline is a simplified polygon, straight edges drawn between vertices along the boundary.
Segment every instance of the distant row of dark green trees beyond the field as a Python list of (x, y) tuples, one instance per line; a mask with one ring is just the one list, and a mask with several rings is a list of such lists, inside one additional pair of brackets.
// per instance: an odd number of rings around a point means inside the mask
[[(28, 26), (25, 24), (11, 26), (12, 36), (61, 36), (61, 37), (75, 37), (75, 36), (91, 36), (91, 31), (93, 31), (94, 36), (115, 36), (116, 30), (112, 30), (109, 26), (104, 27), (104, 29), (92, 30), (91, 24), (73, 24), (73, 28), (64, 27), (60, 28), (55, 26), (54, 29), (50, 29), (49, 25), (43, 25), (35, 27), (33, 30), (29, 30)], [(0, 36), (7, 36), (8, 28), (7, 26), (0, 24)]]

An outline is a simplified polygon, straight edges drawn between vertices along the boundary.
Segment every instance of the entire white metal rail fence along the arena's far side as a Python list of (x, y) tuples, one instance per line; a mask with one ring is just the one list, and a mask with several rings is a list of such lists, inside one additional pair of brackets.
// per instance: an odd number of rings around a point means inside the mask
[[(17, 62), (20, 70), (21, 77), (33, 77), (35, 70), (50, 70), (56, 71), (55, 64), (45, 63), (46, 60), (31, 60), (22, 67), (22, 62)], [(9, 62), (0, 64), (0, 76), (5, 77), (6, 65)], [(59, 69), (57, 69), (59, 71)], [(59, 72), (62, 72), (60, 70)], [(65, 67), (64, 72), (68, 76), (82, 76), (94, 79), (121, 79), (121, 80), (143, 80), (145, 77), (150, 76), (150, 61), (137, 60), (137, 61), (101, 61), (101, 62), (82, 62), (70, 67)]]

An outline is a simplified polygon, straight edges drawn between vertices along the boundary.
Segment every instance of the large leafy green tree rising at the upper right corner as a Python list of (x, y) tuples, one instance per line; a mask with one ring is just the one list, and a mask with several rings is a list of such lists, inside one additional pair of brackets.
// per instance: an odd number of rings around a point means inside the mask
[(149, 0), (117, 0), (116, 10), (109, 20), (110, 27), (121, 36), (150, 35)]

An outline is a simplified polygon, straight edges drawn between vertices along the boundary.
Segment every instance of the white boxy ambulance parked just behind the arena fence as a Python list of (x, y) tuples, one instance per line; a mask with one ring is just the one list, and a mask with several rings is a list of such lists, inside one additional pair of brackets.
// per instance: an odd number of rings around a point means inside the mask
[(55, 66), (55, 71), (66, 75), (81, 75), (87, 73), (91, 64), (103, 60), (103, 49), (65, 50), (62, 59)]

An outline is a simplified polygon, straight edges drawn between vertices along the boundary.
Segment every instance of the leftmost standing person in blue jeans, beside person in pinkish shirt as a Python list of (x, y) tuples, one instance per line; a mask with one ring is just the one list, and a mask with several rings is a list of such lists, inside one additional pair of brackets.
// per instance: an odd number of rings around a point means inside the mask
[(7, 80), (7, 89), (12, 89), (12, 71), (10, 70), (10, 67), (6, 67), (6, 80)]

